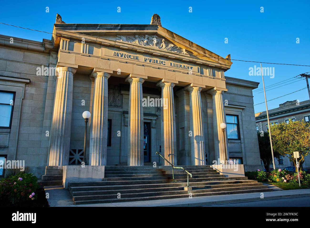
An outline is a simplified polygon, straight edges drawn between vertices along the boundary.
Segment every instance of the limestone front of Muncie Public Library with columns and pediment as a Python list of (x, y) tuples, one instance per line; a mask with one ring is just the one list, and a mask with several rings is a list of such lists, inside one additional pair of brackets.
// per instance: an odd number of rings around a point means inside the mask
[[(224, 77), (229, 59), (162, 26), (56, 23), (51, 40), (0, 41), (0, 90), (15, 96), (0, 157), (25, 160), (38, 177), (80, 164), (86, 110), (89, 165), (168, 165), (158, 151), (174, 165), (262, 167), (258, 83)], [(227, 115), (236, 123), (223, 135)]]

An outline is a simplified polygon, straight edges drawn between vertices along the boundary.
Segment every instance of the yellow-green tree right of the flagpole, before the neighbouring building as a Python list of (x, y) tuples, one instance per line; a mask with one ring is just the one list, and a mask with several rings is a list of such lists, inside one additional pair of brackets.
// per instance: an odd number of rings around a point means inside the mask
[(296, 172), (296, 159), (293, 156), (294, 151), (299, 152), (299, 168), (303, 167), (305, 157), (310, 150), (310, 128), (309, 123), (304, 121), (289, 121), (289, 123), (280, 123), (270, 126), (273, 150), (282, 156), (286, 156), (294, 163)]

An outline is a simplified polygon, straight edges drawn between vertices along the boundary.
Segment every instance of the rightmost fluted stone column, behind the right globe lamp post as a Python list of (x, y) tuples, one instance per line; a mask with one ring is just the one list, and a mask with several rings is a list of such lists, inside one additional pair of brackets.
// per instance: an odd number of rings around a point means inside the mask
[(214, 150), (215, 159), (218, 159), (220, 163), (225, 161), (225, 140), (222, 129), (219, 127), (221, 123), (226, 123), (224, 102), (223, 102), (222, 90), (211, 91), (212, 103), (213, 103), (213, 129), (214, 129)]

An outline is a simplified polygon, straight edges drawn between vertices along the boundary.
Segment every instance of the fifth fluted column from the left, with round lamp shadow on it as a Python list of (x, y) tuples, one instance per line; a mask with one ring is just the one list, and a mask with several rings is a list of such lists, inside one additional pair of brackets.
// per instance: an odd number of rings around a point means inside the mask
[(189, 91), (191, 160), (192, 165), (206, 164), (205, 134), (203, 130), (201, 87), (187, 87)]

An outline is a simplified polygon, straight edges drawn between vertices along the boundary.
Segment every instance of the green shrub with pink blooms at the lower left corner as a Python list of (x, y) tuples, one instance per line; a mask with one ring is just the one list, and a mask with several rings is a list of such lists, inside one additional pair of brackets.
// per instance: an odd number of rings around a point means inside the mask
[(31, 173), (18, 173), (15, 176), (0, 180), (0, 200), (11, 203), (34, 200), (39, 185), (37, 177)]

